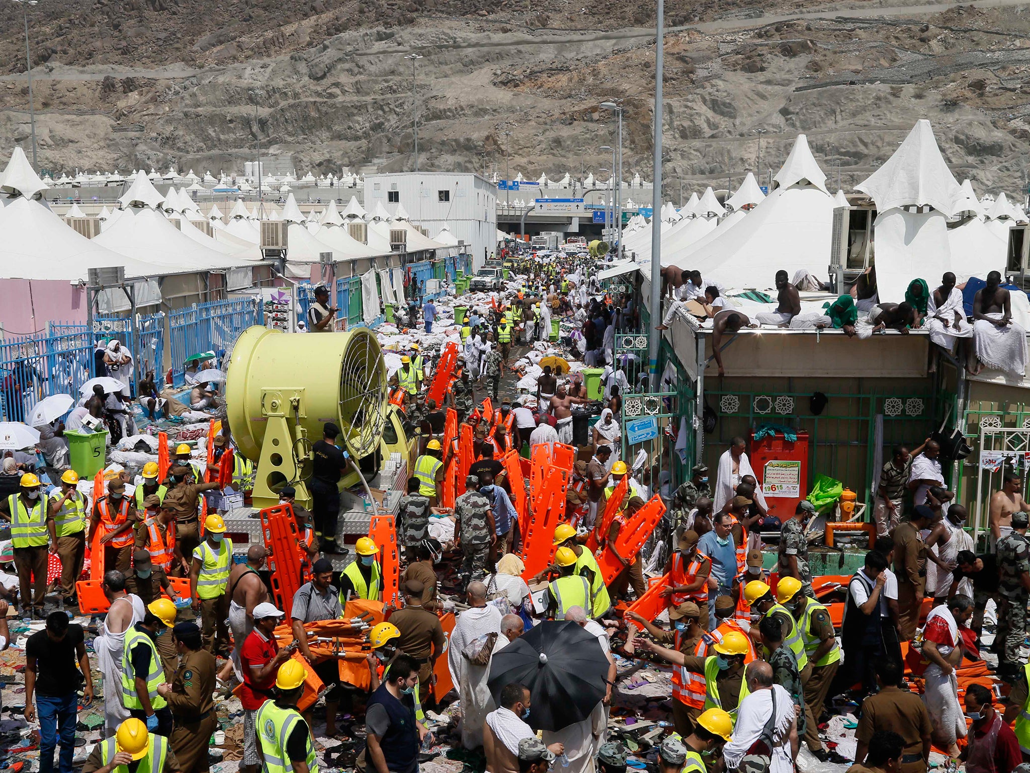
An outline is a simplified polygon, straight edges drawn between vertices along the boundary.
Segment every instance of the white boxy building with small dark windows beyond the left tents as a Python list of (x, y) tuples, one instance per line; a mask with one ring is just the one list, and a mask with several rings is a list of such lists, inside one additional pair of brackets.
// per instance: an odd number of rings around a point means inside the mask
[(444, 226), (468, 246), (478, 270), (496, 250), (497, 187), (467, 172), (400, 172), (365, 175), (365, 208), (382, 202), (391, 215), (398, 205), (431, 236)]

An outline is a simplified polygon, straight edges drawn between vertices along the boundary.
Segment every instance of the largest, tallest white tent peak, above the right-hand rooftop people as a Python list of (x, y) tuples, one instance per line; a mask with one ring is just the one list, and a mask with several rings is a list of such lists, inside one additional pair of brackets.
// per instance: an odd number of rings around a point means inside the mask
[(855, 187), (868, 194), (877, 209), (931, 206), (947, 217), (955, 214), (961, 186), (948, 168), (930, 122), (921, 119), (882, 167)]

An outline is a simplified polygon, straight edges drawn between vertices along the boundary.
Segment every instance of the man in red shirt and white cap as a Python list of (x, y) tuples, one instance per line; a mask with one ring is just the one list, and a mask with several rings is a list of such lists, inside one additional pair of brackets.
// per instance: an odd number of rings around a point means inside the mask
[(279, 666), (288, 661), (297, 649), (296, 644), (279, 649), (275, 643), (273, 632), (284, 616), (285, 612), (267, 601), (255, 606), (254, 630), (244, 640), (240, 650), (243, 672), (243, 685), (240, 687), (240, 703), (243, 704), (243, 763), (240, 770), (244, 773), (255, 773), (262, 762), (255, 731), (258, 709), (272, 698)]

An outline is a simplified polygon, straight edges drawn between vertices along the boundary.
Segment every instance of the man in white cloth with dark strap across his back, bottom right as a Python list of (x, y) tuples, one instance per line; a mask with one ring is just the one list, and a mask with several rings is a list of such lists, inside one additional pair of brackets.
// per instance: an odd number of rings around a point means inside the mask
[[(797, 717), (790, 694), (779, 684), (772, 683), (772, 668), (764, 661), (753, 661), (745, 674), (750, 695), (741, 701), (733, 726), (733, 738), (722, 748), (726, 769), (733, 770), (748, 753), (748, 749), (759, 738), (766, 724), (776, 716), (770, 727), (772, 737), (768, 745), (772, 749), (769, 773), (793, 773), (794, 759), (797, 757)], [(775, 700), (774, 700), (775, 699)]]

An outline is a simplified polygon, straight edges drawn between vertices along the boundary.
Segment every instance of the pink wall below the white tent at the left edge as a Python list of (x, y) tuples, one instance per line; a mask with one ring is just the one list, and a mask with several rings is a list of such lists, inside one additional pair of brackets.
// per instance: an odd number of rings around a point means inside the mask
[(67, 279), (0, 279), (0, 326), (5, 333), (45, 330), (48, 322), (84, 325), (85, 289)]

